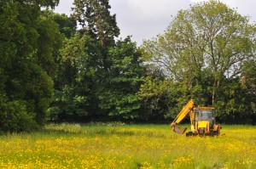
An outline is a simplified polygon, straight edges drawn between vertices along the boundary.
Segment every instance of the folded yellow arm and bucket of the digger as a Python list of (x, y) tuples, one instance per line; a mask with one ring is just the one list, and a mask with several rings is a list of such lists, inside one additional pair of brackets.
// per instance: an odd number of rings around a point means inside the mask
[(191, 110), (193, 110), (194, 106), (195, 106), (195, 102), (194, 102), (193, 99), (191, 99), (191, 100), (189, 101), (189, 103), (186, 104), (186, 105), (183, 107), (183, 109), (177, 114), (177, 117), (174, 119), (174, 121), (172, 121), (172, 123), (171, 123), (171, 125), (170, 125), (170, 126), (172, 127), (172, 130), (173, 130), (174, 132), (177, 132), (177, 133), (179, 133), (179, 134), (183, 134), (183, 133), (186, 131), (187, 128), (181, 129), (181, 128), (177, 127), (176, 125), (177, 125), (180, 121), (183, 121), (183, 119), (186, 117), (186, 115), (188, 115), (189, 112), (190, 112)]

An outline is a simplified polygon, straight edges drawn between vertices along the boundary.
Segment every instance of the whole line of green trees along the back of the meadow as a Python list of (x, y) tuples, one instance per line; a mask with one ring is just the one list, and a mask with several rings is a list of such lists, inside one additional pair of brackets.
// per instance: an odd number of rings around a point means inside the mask
[(219, 121), (255, 122), (256, 27), (236, 9), (195, 3), (137, 47), (119, 38), (108, 0), (74, 0), (70, 16), (58, 3), (0, 2), (0, 131), (171, 121), (189, 99)]

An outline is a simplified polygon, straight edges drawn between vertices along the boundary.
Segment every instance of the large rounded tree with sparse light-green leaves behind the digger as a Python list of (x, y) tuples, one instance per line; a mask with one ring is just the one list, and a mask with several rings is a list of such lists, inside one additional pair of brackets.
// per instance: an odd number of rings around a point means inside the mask
[(179, 11), (166, 32), (144, 42), (144, 48), (148, 61), (163, 66), (173, 81), (184, 82), (189, 93), (210, 73), (215, 104), (223, 79), (240, 76), (244, 62), (253, 57), (255, 35), (247, 17), (211, 0)]

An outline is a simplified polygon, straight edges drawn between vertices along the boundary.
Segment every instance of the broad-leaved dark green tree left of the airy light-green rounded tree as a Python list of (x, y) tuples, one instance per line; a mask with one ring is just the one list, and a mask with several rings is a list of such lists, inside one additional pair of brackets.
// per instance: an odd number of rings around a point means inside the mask
[(140, 116), (141, 104), (137, 92), (143, 83), (145, 68), (141, 51), (130, 37), (119, 40), (109, 49), (110, 69), (104, 88), (99, 94), (99, 106), (108, 115), (122, 119)]

